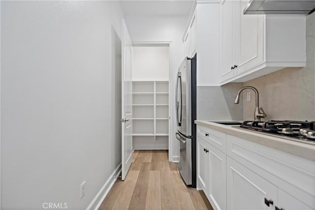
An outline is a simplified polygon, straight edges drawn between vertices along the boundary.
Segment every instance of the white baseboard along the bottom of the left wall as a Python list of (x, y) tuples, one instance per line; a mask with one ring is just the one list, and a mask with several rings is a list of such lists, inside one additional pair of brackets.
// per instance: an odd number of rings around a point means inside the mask
[(114, 170), (114, 172), (110, 175), (108, 180), (105, 182), (105, 184), (102, 186), (102, 188), (99, 190), (91, 204), (88, 206), (87, 210), (98, 210), (102, 202), (104, 201), (106, 195), (108, 194), (109, 190), (114, 185), (115, 181), (117, 180), (117, 177), (122, 171), (122, 164), (119, 164), (117, 168)]

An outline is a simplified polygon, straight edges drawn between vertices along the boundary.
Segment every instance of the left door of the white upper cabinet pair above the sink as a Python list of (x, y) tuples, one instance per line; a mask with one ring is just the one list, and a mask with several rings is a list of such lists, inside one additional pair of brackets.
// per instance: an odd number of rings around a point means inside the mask
[(234, 50), (233, 45), (233, 6), (234, 2), (232, 0), (221, 0), (221, 36), (220, 36), (220, 76), (221, 82), (227, 80), (233, 76), (234, 66)]

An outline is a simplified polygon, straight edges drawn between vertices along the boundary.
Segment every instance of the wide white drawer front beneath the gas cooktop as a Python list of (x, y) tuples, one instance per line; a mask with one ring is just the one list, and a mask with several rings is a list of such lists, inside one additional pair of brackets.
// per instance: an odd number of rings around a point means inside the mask
[(307, 206), (315, 206), (315, 162), (226, 135), (227, 155)]

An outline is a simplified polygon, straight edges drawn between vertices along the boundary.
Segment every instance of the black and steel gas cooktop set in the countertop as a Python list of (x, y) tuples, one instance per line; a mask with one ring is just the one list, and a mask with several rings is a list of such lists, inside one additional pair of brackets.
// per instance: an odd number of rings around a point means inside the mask
[(315, 121), (244, 121), (242, 125), (233, 127), (282, 137), (289, 140), (311, 141), (315, 143)]

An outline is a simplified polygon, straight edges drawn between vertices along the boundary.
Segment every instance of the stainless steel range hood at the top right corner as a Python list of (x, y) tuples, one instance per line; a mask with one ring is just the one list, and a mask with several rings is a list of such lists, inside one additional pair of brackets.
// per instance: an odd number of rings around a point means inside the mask
[(250, 0), (244, 14), (308, 15), (315, 9), (315, 0)]

